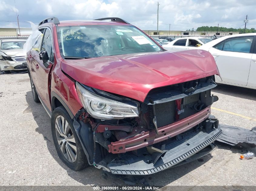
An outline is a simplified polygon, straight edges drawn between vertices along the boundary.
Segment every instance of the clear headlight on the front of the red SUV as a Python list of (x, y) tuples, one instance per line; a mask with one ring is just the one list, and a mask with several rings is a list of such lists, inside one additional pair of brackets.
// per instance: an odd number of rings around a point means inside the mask
[(138, 107), (91, 93), (76, 82), (76, 90), (85, 110), (97, 119), (138, 117)]

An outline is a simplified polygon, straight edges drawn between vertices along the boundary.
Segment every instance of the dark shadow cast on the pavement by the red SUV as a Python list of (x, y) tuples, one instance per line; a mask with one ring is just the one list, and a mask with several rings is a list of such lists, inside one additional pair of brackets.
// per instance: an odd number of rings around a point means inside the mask
[[(73, 171), (69, 169), (59, 158), (58, 154), (55, 150), (55, 146), (52, 140), (51, 134), (51, 120), (43, 108), (41, 103), (35, 103), (32, 96), (32, 91), (28, 91), (26, 95), (26, 101), (28, 103), (27, 110), (32, 112), (32, 115), (37, 123), (38, 127), (35, 129), (36, 132), (42, 134), (44, 137), (49, 153), (52, 155), (55, 161), (57, 161), (58, 165), (60, 165), (63, 169), (65, 169), (68, 175), (76, 180), (77, 182), (83, 185), (91, 185), (91, 186), (121, 186), (125, 185), (125, 182), (120, 179), (114, 179), (108, 177), (106, 180), (101, 177), (102, 170), (96, 169), (93, 166), (85, 168), (81, 171)], [(187, 173), (197, 169), (198, 167), (204, 165), (207, 168), (211, 168), (210, 165), (205, 164), (212, 158), (211, 154), (207, 154), (204, 157), (192, 161), (188, 164), (184, 164), (178, 167), (173, 167), (171, 169), (167, 169), (161, 171), (159, 173), (148, 175), (145, 177), (150, 186), (166, 186), (167, 184), (183, 177)], [(58, 172), (56, 172), (58, 174)]]

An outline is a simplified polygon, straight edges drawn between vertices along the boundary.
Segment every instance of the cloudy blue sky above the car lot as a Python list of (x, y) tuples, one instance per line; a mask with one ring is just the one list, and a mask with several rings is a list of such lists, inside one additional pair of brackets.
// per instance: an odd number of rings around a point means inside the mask
[[(159, 0), (159, 30), (187, 30), (200, 26), (256, 28), (255, 0)], [(0, 27), (17, 27), (19, 21), (122, 18), (142, 30), (157, 29), (157, 0), (0, 0)], [(30, 27), (20, 22), (20, 27)]]

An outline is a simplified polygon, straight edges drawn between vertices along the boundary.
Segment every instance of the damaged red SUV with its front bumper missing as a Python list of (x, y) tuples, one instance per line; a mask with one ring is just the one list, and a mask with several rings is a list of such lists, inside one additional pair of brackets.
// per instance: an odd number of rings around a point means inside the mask
[(33, 98), (68, 167), (145, 175), (214, 149), (222, 130), (210, 115), (218, 100), (210, 53), (168, 52), (120, 18), (52, 17), (38, 30), (27, 53)]

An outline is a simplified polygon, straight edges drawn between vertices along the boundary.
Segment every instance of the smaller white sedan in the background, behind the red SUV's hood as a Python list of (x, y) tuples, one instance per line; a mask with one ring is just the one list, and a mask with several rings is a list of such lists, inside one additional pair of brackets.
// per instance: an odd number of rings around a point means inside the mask
[(186, 49), (198, 49), (199, 46), (211, 42), (212, 40), (204, 37), (184, 37), (178, 38), (170, 43), (163, 45), (166, 50), (186, 50)]

